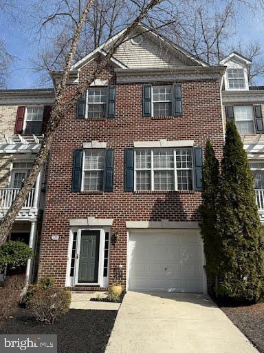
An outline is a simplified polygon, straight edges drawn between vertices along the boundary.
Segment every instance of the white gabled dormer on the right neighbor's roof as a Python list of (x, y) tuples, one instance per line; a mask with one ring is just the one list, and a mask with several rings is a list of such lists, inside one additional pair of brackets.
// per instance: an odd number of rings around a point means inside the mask
[(232, 52), (228, 57), (220, 61), (220, 65), (227, 67), (224, 75), (224, 90), (241, 91), (249, 90), (248, 71), (251, 61), (243, 55)]

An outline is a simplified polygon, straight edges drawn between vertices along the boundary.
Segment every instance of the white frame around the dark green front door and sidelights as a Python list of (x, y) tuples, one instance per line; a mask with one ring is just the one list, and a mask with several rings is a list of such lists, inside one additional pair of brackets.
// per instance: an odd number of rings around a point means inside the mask
[[(98, 282), (97, 283), (78, 283), (78, 261), (74, 265), (74, 277), (70, 276), (71, 272), (71, 261), (72, 261), (72, 244), (74, 239), (74, 232), (77, 232), (76, 239), (76, 254), (80, 252), (80, 236), (83, 230), (100, 230), (100, 243), (99, 243), (99, 261), (98, 261)], [(110, 227), (72, 227), (69, 231), (69, 244), (68, 244), (68, 257), (67, 257), (67, 270), (65, 287), (74, 287), (76, 284), (89, 287), (90, 285), (98, 285), (100, 287), (108, 287), (109, 285), (109, 263), (110, 256), (108, 256), (108, 273), (107, 277), (104, 277), (104, 243), (105, 233), (109, 232), (109, 255), (111, 249), (111, 228)], [(77, 260), (77, 259), (76, 259)], [(77, 283), (76, 283), (77, 279)]]

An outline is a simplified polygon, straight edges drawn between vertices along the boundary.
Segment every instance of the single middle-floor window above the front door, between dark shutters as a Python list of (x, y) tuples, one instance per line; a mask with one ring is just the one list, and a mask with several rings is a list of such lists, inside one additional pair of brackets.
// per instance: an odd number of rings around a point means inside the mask
[(102, 190), (105, 150), (86, 150), (83, 162), (83, 190)]

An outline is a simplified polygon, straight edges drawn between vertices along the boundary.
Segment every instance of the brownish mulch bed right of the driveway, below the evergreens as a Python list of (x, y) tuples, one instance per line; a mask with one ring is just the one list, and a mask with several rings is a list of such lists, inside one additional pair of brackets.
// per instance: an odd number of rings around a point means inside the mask
[(264, 303), (245, 306), (217, 304), (256, 349), (264, 353)]

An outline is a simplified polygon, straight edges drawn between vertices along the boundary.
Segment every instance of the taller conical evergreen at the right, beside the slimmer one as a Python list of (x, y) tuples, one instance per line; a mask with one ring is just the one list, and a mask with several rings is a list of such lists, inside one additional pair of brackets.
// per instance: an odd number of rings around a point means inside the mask
[(228, 122), (217, 194), (218, 293), (237, 301), (259, 301), (264, 283), (264, 236), (254, 178), (241, 137)]

